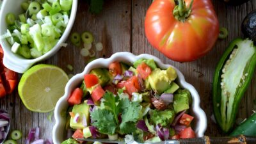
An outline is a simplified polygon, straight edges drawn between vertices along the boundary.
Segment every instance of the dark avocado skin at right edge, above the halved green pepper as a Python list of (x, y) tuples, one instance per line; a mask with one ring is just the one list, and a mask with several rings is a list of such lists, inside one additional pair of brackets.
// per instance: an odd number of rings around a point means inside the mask
[(256, 42), (256, 10), (253, 10), (243, 20), (242, 32), (244, 36)]

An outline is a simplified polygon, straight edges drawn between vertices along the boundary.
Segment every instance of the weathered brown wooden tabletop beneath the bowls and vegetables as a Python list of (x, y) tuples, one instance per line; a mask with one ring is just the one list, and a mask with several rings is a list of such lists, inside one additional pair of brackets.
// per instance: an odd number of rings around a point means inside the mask
[[(241, 6), (226, 6), (219, 0), (212, 1), (220, 26), (228, 29), (228, 37), (225, 40), (218, 40), (216, 45), (203, 58), (190, 63), (179, 63), (164, 57), (163, 54), (156, 51), (150, 44), (144, 33), (144, 17), (150, 6), (151, 0), (106, 0), (104, 10), (99, 15), (92, 15), (88, 12), (88, 6), (83, 0), (79, 0), (76, 22), (72, 31), (92, 31), (95, 35), (95, 42), (102, 42), (104, 50), (97, 52), (97, 58), (108, 58), (115, 52), (128, 51), (133, 54), (148, 53), (160, 58), (164, 63), (169, 63), (184, 74), (186, 81), (193, 84), (200, 94), (201, 104), (204, 109), (208, 127), (205, 135), (223, 136), (218, 125), (211, 120), (212, 115), (212, 76), (214, 69), (220, 60), (223, 51), (237, 37), (243, 37), (241, 33), (241, 22), (245, 15), (256, 9), (256, 1), (251, 0)], [(49, 60), (42, 61), (57, 65), (63, 68), (67, 74), (77, 74), (83, 71), (88, 58), (84, 58), (80, 54), (80, 49), (70, 44), (61, 48), (61, 50), (52, 56)], [(66, 66), (70, 64), (74, 66), (74, 70), (70, 72)], [(253, 100), (256, 99), (256, 75), (244, 95), (240, 107), (239, 118), (246, 118), (253, 113), (256, 108)], [(47, 120), (49, 113), (33, 113), (26, 109), (20, 100), (17, 90), (12, 95), (8, 95), (4, 99), (0, 99), (0, 108), (7, 109), (11, 114), (12, 126), (11, 130), (19, 129), (24, 136), (19, 143), (24, 143), (28, 136), (29, 129), (40, 126), (41, 138), (52, 137), (52, 127), (54, 125), (54, 117), (52, 122)]]

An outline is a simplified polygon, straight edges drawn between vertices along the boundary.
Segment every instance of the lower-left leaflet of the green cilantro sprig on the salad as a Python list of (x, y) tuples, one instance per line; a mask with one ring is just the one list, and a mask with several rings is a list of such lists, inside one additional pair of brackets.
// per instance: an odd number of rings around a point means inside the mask
[(94, 121), (93, 126), (97, 127), (99, 132), (103, 134), (115, 134), (116, 123), (113, 114), (108, 109), (95, 109), (91, 113)]

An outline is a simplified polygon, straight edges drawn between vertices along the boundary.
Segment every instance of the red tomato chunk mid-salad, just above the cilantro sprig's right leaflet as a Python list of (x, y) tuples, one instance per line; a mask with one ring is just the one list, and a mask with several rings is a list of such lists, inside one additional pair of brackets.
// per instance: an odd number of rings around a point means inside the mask
[(136, 76), (131, 77), (125, 83), (125, 89), (129, 95), (132, 95), (134, 92), (138, 92), (138, 88), (140, 88), (140, 85)]

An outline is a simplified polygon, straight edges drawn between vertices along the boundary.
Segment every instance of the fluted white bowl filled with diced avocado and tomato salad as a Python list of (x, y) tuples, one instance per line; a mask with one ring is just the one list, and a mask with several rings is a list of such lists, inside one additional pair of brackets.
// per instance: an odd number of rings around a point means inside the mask
[(55, 110), (53, 140), (150, 143), (203, 136), (206, 116), (199, 101), (176, 68), (148, 54), (119, 52), (70, 79)]

